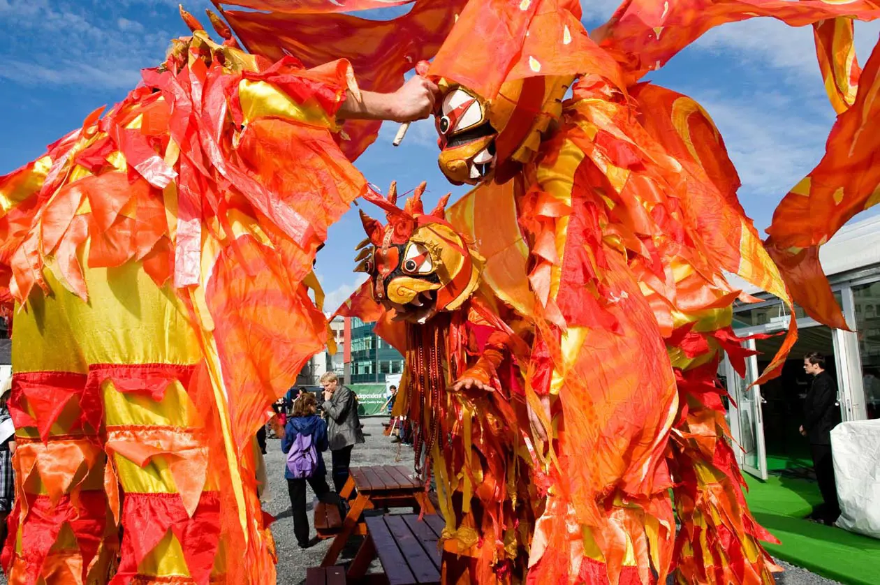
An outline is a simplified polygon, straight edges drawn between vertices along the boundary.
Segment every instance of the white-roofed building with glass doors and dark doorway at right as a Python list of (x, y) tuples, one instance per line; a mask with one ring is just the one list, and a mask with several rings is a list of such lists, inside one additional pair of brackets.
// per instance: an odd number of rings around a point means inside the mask
[[(822, 246), (819, 261), (851, 331), (822, 325), (801, 307), (791, 311), (779, 298), (729, 277), (730, 284), (762, 299), (737, 303), (733, 310), (735, 333), (744, 338), (745, 348), (757, 352), (746, 358), (745, 377), (729, 360), (719, 371), (733, 399), (728, 416), (742, 447), (735, 450), (737, 459), (745, 472), (760, 479), (768, 473), (805, 475), (811, 470), (810, 446), (799, 432), (811, 381), (803, 372), (808, 352), (825, 355), (825, 369), (837, 381), (843, 420), (880, 419), (880, 216), (844, 227)], [(781, 347), (791, 318), (798, 340), (781, 375), (752, 386)]]

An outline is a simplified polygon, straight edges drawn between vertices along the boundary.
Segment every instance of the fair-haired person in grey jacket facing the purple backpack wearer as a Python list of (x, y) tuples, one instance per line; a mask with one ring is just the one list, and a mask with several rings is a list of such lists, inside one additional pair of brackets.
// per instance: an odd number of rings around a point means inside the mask
[(348, 480), (351, 450), (357, 443), (363, 442), (361, 420), (357, 416), (355, 393), (339, 385), (339, 378), (334, 372), (321, 376), (320, 384), (324, 388), (322, 407), (327, 415), (327, 435), (333, 455), (333, 483), (339, 493)]

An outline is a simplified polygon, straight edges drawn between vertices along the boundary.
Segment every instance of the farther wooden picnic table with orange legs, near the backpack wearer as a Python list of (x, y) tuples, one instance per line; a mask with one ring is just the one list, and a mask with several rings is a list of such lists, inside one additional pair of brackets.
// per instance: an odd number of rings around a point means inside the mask
[(404, 465), (376, 465), (372, 467), (352, 467), (348, 481), (342, 488), (340, 497), (350, 500), (348, 515), (342, 521), (339, 532), (327, 549), (321, 567), (336, 564), (340, 552), (352, 535), (367, 534), (367, 524), (363, 522), (363, 510), (382, 508), (413, 508), (426, 514), (434, 514), (434, 505), (425, 493), (422, 479)]

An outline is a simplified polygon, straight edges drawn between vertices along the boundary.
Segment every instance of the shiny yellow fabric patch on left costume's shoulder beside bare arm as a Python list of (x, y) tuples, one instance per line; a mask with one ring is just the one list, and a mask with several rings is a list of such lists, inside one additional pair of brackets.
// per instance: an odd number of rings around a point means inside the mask
[(265, 81), (242, 79), (238, 84), (238, 100), (245, 124), (259, 118), (284, 118), (321, 128), (335, 126), (334, 118), (315, 100), (297, 104), (290, 95)]

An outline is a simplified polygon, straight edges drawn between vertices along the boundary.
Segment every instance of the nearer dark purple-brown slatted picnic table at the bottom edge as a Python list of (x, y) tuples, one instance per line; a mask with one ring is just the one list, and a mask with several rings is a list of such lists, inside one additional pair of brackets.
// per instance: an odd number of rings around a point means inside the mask
[(348, 581), (363, 579), (378, 557), (388, 585), (439, 585), (441, 552), (437, 540), (445, 523), (436, 514), (371, 516), (368, 534), (348, 568)]

